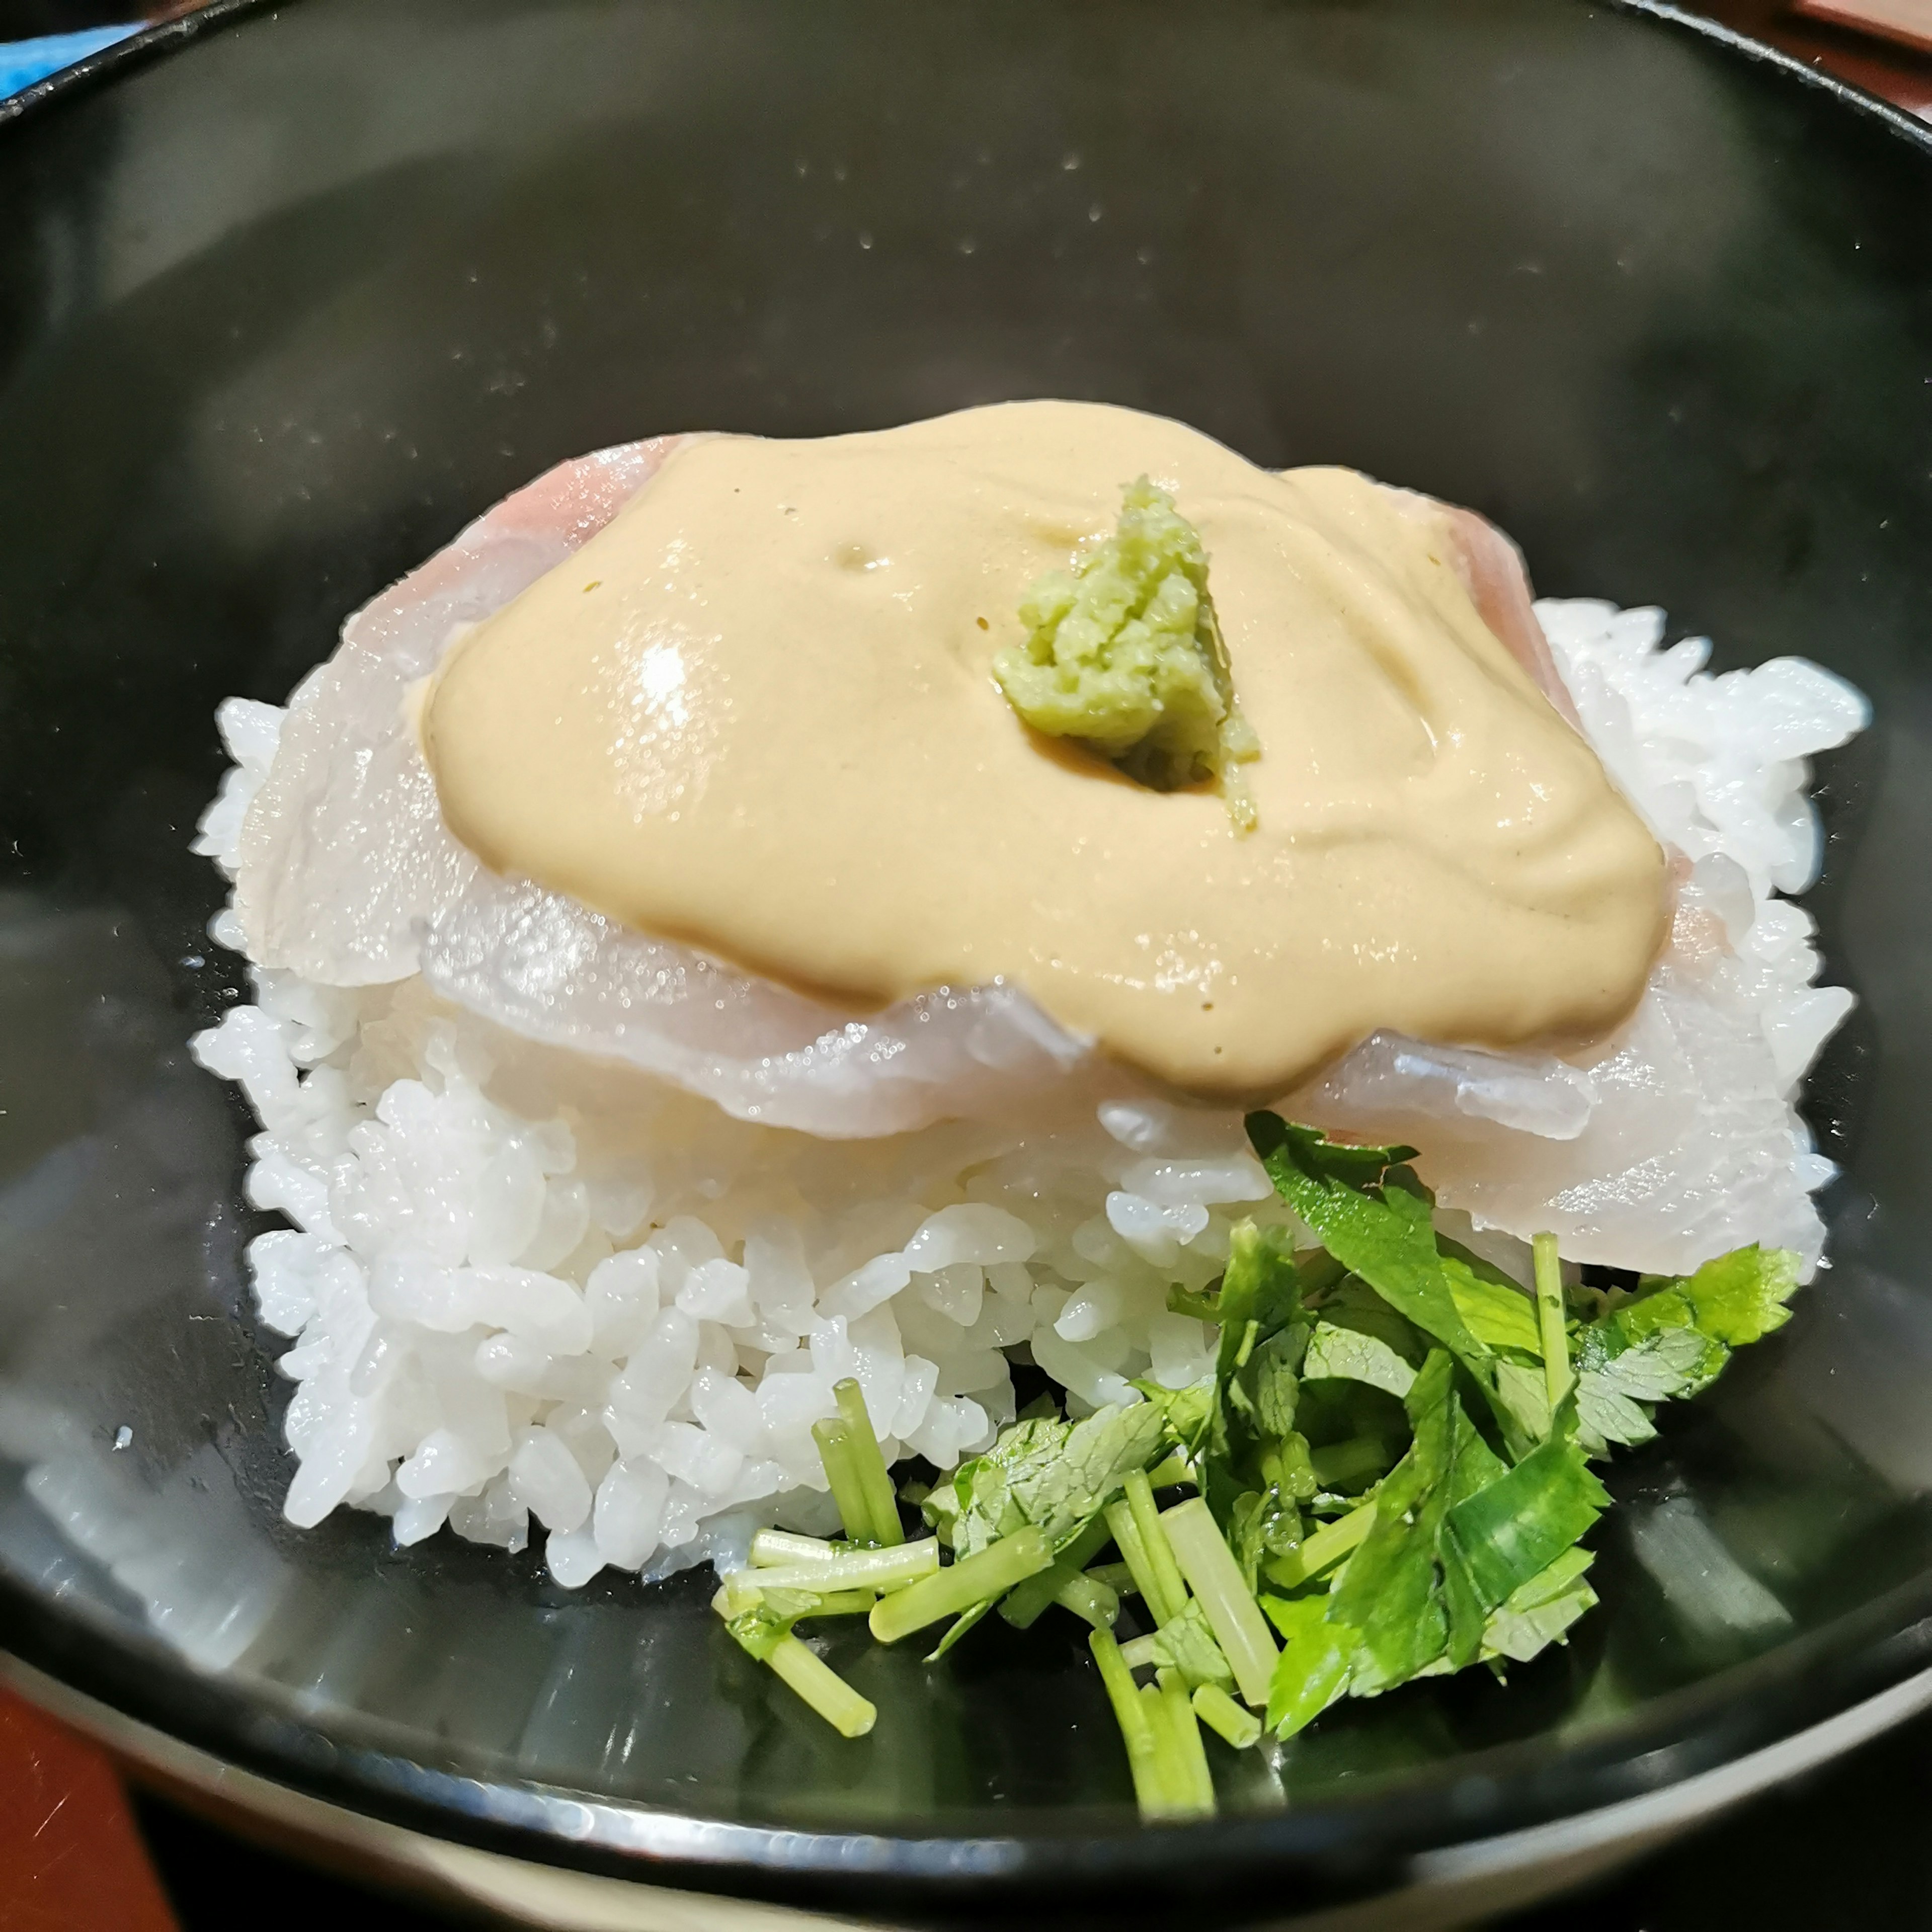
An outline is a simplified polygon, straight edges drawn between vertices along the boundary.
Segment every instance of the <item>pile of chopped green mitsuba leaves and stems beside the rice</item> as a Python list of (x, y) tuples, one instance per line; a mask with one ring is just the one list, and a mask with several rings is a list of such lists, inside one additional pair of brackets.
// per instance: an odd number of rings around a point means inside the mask
[(908, 1492), (931, 1532), (912, 1542), (840, 1383), (819, 1447), (844, 1542), (761, 1530), (715, 1600), (838, 1731), (869, 1731), (873, 1706), (794, 1625), (866, 1615), (896, 1642), (947, 1623), (937, 1660), (993, 1609), (1026, 1629), (1061, 1607), (1092, 1625), (1142, 1812), (1204, 1816), (1202, 1725), (1242, 1750), (1339, 1698), (1472, 1663), (1501, 1677), (1563, 1642), (1596, 1604), (1582, 1538), (1609, 1493), (1590, 1463), (1789, 1318), (1785, 1250), (1600, 1291), (1565, 1287), (1540, 1235), (1526, 1293), (1435, 1231), (1412, 1148), (1273, 1113), (1248, 1136), (1285, 1213), (1233, 1229), (1209, 1293), (1171, 1294), (1219, 1325), (1211, 1376), (1022, 1416)]

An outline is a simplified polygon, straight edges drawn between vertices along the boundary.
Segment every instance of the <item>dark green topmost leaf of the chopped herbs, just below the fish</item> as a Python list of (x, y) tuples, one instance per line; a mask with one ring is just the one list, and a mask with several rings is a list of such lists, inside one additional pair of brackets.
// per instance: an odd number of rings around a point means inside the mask
[[(1383, 1184), (1391, 1163), (1410, 1157), (1412, 1148), (1341, 1148), (1273, 1113), (1250, 1113), (1248, 1138), (1275, 1192), (1337, 1262), (1464, 1360), (1488, 1358), (1488, 1345), (1470, 1333), (1455, 1304), (1430, 1204), (1405, 1186)], [(1372, 1186), (1378, 1192), (1368, 1192)]]

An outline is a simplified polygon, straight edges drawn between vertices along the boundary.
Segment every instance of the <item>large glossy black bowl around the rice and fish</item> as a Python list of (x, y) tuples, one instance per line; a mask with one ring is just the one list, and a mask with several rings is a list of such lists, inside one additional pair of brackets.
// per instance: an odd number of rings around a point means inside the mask
[[(290, 1530), (251, 1122), (184, 1053), (240, 995), (187, 852), (216, 699), (560, 456), (1041, 392), (1474, 504), (1544, 589), (1878, 711), (1820, 771), (1835, 1265), (1617, 1466), (1567, 1650), (1337, 1712), (1192, 1830), (1134, 1824), (1070, 1629), (850, 1658), (848, 1745), (697, 1578)], [(234, 0), (0, 108), (17, 1671), (269, 1808), (914, 1918), (1279, 1918), (1924, 1702), (1928, 450), (1932, 141), (1667, 8)]]

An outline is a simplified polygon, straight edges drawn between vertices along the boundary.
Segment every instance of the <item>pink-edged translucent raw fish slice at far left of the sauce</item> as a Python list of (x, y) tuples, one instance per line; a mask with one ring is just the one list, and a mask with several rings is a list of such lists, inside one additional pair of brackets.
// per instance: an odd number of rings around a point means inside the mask
[(257, 964), (327, 985), (415, 972), (423, 923), (477, 862), (442, 829), (406, 694), (462, 628), (603, 529), (674, 440), (558, 464), (350, 618), (296, 688), (242, 827), (236, 914)]

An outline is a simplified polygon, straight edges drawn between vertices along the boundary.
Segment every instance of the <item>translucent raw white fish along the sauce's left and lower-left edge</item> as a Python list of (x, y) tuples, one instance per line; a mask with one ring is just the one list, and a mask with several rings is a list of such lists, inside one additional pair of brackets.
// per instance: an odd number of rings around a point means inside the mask
[(255, 786), (232, 858), (249, 956), (338, 987), (421, 972), (529, 1039), (821, 1136), (1065, 1109), (1076, 1066), (1094, 1101), (1132, 1090), (1016, 987), (939, 989), (856, 1018), (495, 877), (450, 837), (406, 717), (410, 688), (595, 535), (676, 440), (560, 464), (350, 618), (290, 699), (267, 777), (240, 767), (205, 823), (205, 848), (226, 856), (226, 821)]

